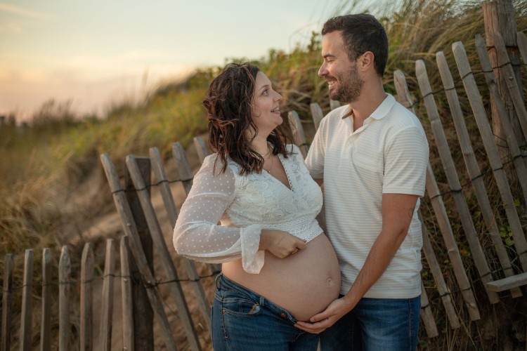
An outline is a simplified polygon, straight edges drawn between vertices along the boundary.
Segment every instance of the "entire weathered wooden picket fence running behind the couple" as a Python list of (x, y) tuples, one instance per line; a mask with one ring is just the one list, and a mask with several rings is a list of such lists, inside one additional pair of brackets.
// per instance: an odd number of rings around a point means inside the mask
[[(527, 39), (523, 33), (518, 33), (518, 43), (520, 46), (521, 57), (523, 65), (527, 63)], [(507, 57), (505, 45), (502, 42), (499, 33), (495, 34), (494, 46), (497, 50), (499, 58), (499, 66), (505, 74), (509, 74), (509, 93), (514, 101), (514, 109), (518, 114), (521, 124), (522, 133), (527, 140), (527, 112), (526, 106), (523, 103), (523, 94), (519, 90), (514, 73), (512, 72), (512, 65)], [(495, 83), (495, 74), (493, 67), (490, 65), (488, 53), (486, 51), (486, 44), (481, 37), (476, 37), (476, 48), (479, 53), (479, 60), (483, 68), (483, 74), (488, 84), (488, 90), (492, 95), (497, 110), (500, 115), (505, 116), (505, 107), (497, 91)], [(451, 67), (448, 67), (447, 60), (443, 52), (436, 53), (436, 64), (438, 71), (441, 74), (441, 81), (443, 88), (441, 91), (433, 91), (427, 75), (427, 68), (422, 60), (415, 62), (417, 83), (420, 93), (410, 93), (405, 76), (402, 72), (397, 71), (394, 74), (394, 82), (396, 86), (396, 98), (403, 103), (410, 110), (414, 109), (417, 102), (413, 101), (413, 96), (422, 96), (420, 100), (424, 102), (424, 107), (427, 111), (429, 124), (433, 133), (433, 140), (429, 138), (431, 148), (436, 148), (441, 157), (443, 171), (445, 173), (447, 185), (442, 185), (442, 192), (439, 190), (434, 170), (429, 164), (427, 169), (426, 190), (427, 195), (422, 201), (423, 208), (431, 208), (431, 216), (422, 221), (423, 225), (423, 253), (424, 260), (426, 260), (427, 273), (433, 277), (433, 281), (429, 286), (422, 286), (422, 322), (427, 336), (433, 338), (439, 335), (439, 331), (434, 319), (433, 305), (430, 303), (429, 292), (436, 290), (434, 294), (441, 300), (441, 304), (445, 310), (445, 315), (448, 319), (448, 325), (452, 329), (458, 329), (462, 326), (460, 321), (461, 315), (468, 313), (470, 321), (481, 319), (481, 309), (476, 303), (474, 282), (483, 284), (488, 300), (480, 301), (479, 303), (495, 304), (502, 300), (503, 296), (507, 298), (519, 298), (523, 296), (522, 286), (527, 284), (527, 241), (525, 229), (522, 227), (521, 214), (516, 209), (514, 203), (514, 195), (512, 194), (512, 187), (509, 184), (510, 173), (516, 173), (515, 179), (519, 183), (521, 194), (516, 194), (516, 198), (521, 197), (523, 204), (527, 201), (527, 157), (525, 150), (521, 150), (516, 139), (514, 138), (514, 131), (508, 119), (502, 119), (502, 128), (507, 134), (507, 145), (509, 147), (509, 159), (501, 159), (497, 145), (493, 138), (493, 133), (488, 122), (488, 116), (481, 100), (479, 87), (476, 85), (474, 79), (475, 72), (472, 72), (467, 55), (464, 51), (462, 43), (457, 42), (453, 44), (453, 54), (457, 65), (457, 72), (462, 77), (462, 84), (464, 91), (468, 96), (471, 111), (476, 120), (481, 140), (483, 141), (484, 150), (474, 150), (467, 131), (465, 119), (472, 118), (463, 114), (460, 107), (457, 88), (453, 79)], [(446, 95), (450, 114), (455, 125), (455, 131), (459, 140), (459, 145), (448, 145), (445, 136), (445, 128), (443, 128), (440, 119), (440, 113), (436, 106), (436, 100), (441, 99), (441, 94)], [(441, 95), (442, 96), (442, 95)], [(331, 108), (338, 107), (338, 102), (331, 102)], [(323, 110), (317, 103), (311, 104), (311, 117), (315, 129), (318, 128), (320, 120), (323, 118)], [(304, 128), (302, 121), (299, 119), (297, 112), (289, 112), (288, 114), (289, 126), (291, 126), (294, 135), (294, 142), (299, 145), (301, 152), (306, 154), (308, 151), (308, 143), (304, 135)], [(306, 123), (306, 121), (304, 121)], [(209, 154), (209, 150), (202, 140), (202, 138), (195, 138), (195, 147), (198, 157), (202, 161), (204, 157)], [(460, 179), (467, 178), (462, 169), (456, 169), (455, 161), (453, 160), (450, 148), (461, 150), (464, 163), (466, 165), (466, 172), (468, 173), (469, 183), (462, 185)], [(512, 232), (514, 239), (513, 246), (506, 246), (500, 237), (499, 228), (495, 219), (495, 209), (491, 206), (489, 199), (488, 185), (483, 182), (484, 174), (479, 166), (479, 161), (476, 159), (476, 152), (485, 153), (490, 164), (490, 171), (495, 181), (495, 185), (500, 194), (500, 201), (505, 208), (507, 216), (507, 223)], [(167, 176), (165, 171), (165, 164), (162, 160), (159, 150), (156, 147), (150, 149), (148, 158), (134, 157), (129, 155), (126, 157), (126, 168), (129, 173), (129, 185), (122, 187), (117, 174), (115, 165), (113, 164), (108, 154), (101, 155), (101, 161), (105, 171), (105, 175), (110, 185), (113, 199), (117, 212), (119, 213), (122, 227), (124, 230), (124, 237), (121, 238), (119, 244), (119, 263), (120, 272), (115, 270), (115, 244), (109, 239), (106, 244), (106, 256), (103, 277), (103, 298), (100, 306), (100, 313), (102, 315), (102, 323), (98, 326), (100, 328), (99, 344), (93, 345), (93, 293), (92, 282), (94, 277), (93, 266), (93, 249), (91, 244), (86, 243), (81, 258), (81, 272), (79, 282), (72, 282), (70, 256), (68, 255), (67, 247), (64, 247), (60, 254), (60, 262), (58, 264), (58, 283), (59, 283), (59, 309), (58, 309), (58, 349), (70, 350), (72, 345), (70, 341), (70, 313), (73, 309), (79, 310), (80, 320), (80, 343), (78, 347), (81, 350), (110, 350), (110, 340), (112, 338), (112, 311), (114, 306), (113, 301), (113, 285), (115, 280), (122, 284), (122, 348), (123, 350), (134, 350), (134, 345), (137, 345), (138, 333), (134, 331), (134, 319), (139, 316), (134, 316), (134, 304), (141, 301), (132, 298), (132, 283), (131, 283), (131, 265), (134, 264), (141, 276), (141, 285), (145, 289), (145, 300), (151, 306), (153, 316), (155, 317), (157, 325), (160, 327), (160, 337), (164, 342), (167, 350), (176, 350), (181, 348), (181, 345), (176, 345), (174, 340), (174, 327), (169, 324), (167, 317), (167, 310), (165, 308), (164, 300), (162, 300), (159, 282), (163, 282), (169, 287), (170, 298), (174, 300), (179, 319), (183, 325), (188, 347), (191, 350), (202, 350), (202, 340), (196, 332), (195, 324), (196, 318), (204, 321), (208, 327), (210, 323), (210, 305), (211, 301), (207, 298), (202, 285), (204, 277), (214, 277), (214, 274), (219, 272), (217, 265), (211, 265), (211, 274), (202, 276), (197, 273), (195, 263), (186, 258), (181, 259), (181, 262), (186, 271), (187, 278), (181, 279), (178, 277), (176, 265), (174, 263), (174, 250), (171, 244), (167, 246), (167, 240), (170, 242), (171, 232), (163, 232), (160, 225), (160, 213), (155, 211), (152, 205), (150, 196), (150, 188), (157, 187), (162, 196), (164, 209), (168, 214), (169, 224), (174, 227), (177, 219), (177, 208), (174, 201), (171, 185), (174, 183), (181, 183), (188, 194), (193, 181), (193, 171), (186, 153), (181, 147), (180, 143), (172, 145), (173, 161), (176, 163), (177, 175)], [(509, 173), (506, 172), (505, 164), (507, 164)], [(150, 181), (150, 171), (155, 176), (155, 183)], [(497, 256), (499, 269), (491, 270), (489, 260), (486, 258), (486, 251), (481, 245), (481, 234), (478, 234), (474, 225), (474, 213), (467, 204), (467, 199), (464, 197), (464, 190), (470, 185), (477, 199), (477, 204), (481, 211), (481, 216), (486, 225), (485, 237), (488, 237), (493, 245), (495, 256)], [(133, 188), (133, 189), (132, 189)], [(131, 206), (129, 194), (134, 194), (136, 200), (140, 204), (134, 209)], [(453, 208), (445, 206), (445, 197), (453, 199)], [(467, 240), (470, 248), (471, 259), (474, 261), (478, 279), (469, 279), (467, 276), (467, 267), (465, 267), (460, 249), (458, 247), (455, 235), (453, 232), (453, 223), (448, 216), (448, 212), (452, 209), (459, 215), (460, 226), (462, 233)], [(422, 217), (422, 214), (419, 213)], [(143, 217), (143, 219), (139, 218)], [(148, 260), (148, 250), (145, 249), (144, 239), (145, 231), (141, 229), (140, 222), (144, 220), (147, 237), (151, 238), (155, 256), (162, 263), (164, 269), (164, 277), (157, 278), (152, 272), (151, 263)], [(440, 239), (443, 239), (442, 241)], [(434, 244), (433, 244), (434, 243)], [(434, 245), (436, 249), (434, 249)], [(440, 246), (437, 248), (437, 246)], [(448, 253), (452, 272), (453, 282), (455, 286), (450, 286), (445, 281), (444, 272), (441, 270), (441, 265), (438, 263), (438, 250)], [(514, 262), (513, 262), (514, 261)], [(11, 305), (13, 303), (13, 289), (18, 287), (13, 286), (13, 259), (11, 255), (7, 255), (4, 260), (4, 290), (3, 290), (3, 308), (1, 320), (1, 350), (9, 350), (10, 347), (10, 331), (12, 329), (11, 320)], [(494, 263), (496, 265), (496, 263)], [(34, 343), (32, 335), (32, 291), (33, 283), (33, 251), (27, 250), (25, 253), (24, 266), (24, 283), (22, 286), (22, 312), (20, 322), (20, 350), (30, 350), (32, 343)], [(48, 286), (51, 282), (51, 253), (48, 249), (44, 249), (42, 262), (42, 292), (41, 292), (41, 329), (40, 329), (40, 345), (41, 350), (51, 350), (51, 310), (50, 310), (50, 291)], [(76, 274), (77, 275), (77, 274)], [(185, 296), (183, 289), (181, 289), (181, 282), (187, 280), (193, 286), (192, 298), (197, 300), (197, 310), (190, 310), (187, 300), (189, 296)], [(430, 282), (427, 280), (427, 282)], [(80, 301), (79, 307), (72, 307), (70, 294), (72, 284), (80, 286)], [(462, 306), (456, 306), (456, 301), (453, 300), (453, 291), (455, 289), (462, 296), (464, 309)], [(144, 302), (144, 301), (143, 301)], [(464, 312), (460, 313), (460, 310)], [(465, 321), (469, 322), (469, 321)], [(146, 323), (146, 322), (145, 322)], [(95, 347), (97, 346), (97, 347)], [(77, 345), (76, 345), (77, 348)], [(138, 348), (135, 346), (135, 348)]]

